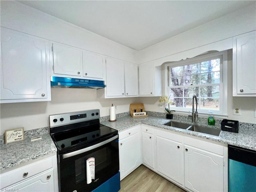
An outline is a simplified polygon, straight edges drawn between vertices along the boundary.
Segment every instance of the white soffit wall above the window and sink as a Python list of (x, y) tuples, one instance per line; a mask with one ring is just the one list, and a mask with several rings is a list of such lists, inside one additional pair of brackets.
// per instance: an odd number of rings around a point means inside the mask
[(173, 54), (200, 48), (200, 46), (256, 30), (255, 19), (256, 2), (139, 51), (137, 53), (139, 58), (138, 63), (141, 64), (166, 56), (172, 56)]

